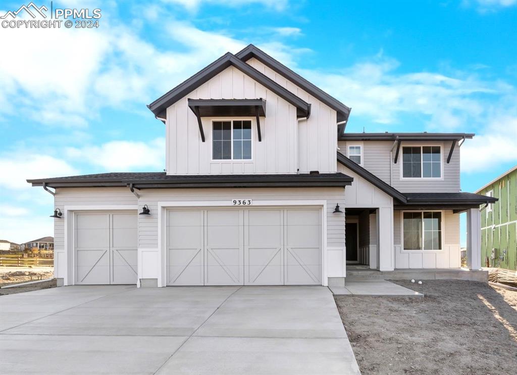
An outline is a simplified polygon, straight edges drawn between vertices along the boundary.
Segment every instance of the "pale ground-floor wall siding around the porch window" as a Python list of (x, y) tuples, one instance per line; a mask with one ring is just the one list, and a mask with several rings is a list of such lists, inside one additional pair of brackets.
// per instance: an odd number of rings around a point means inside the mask
[(403, 250), (402, 212), (393, 215), (396, 268), (460, 268), (460, 215), (442, 211), (442, 250)]

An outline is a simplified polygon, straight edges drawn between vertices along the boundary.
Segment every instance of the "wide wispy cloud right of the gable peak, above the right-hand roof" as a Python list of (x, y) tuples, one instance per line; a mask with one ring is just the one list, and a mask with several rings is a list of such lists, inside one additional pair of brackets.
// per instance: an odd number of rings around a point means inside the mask
[(437, 72), (398, 73), (399, 66), (392, 58), (375, 57), (337, 73), (301, 73), (352, 107), (354, 117), (378, 124), (397, 123), (404, 114), (423, 115), (431, 130), (454, 130), (483, 121), (490, 103), (504, 106), (515, 98), (514, 87), (504, 82), (483, 81), (463, 72), (459, 78)]

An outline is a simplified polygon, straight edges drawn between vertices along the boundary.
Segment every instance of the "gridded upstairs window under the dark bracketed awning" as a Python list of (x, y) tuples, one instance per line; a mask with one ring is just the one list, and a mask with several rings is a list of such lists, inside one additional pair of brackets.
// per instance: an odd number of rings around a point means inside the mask
[(212, 123), (212, 159), (250, 160), (251, 121), (214, 121)]

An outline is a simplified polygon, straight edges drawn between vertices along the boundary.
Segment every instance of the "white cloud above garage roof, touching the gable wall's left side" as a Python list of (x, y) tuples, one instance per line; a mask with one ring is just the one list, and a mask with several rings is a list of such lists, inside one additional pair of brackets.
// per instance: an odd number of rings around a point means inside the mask
[(65, 154), (70, 159), (87, 161), (110, 172), (123, 172), (138, 168), (162, 171), (165, 168), (165, 139), (151, 142), (111, 141), (100, 146), (68, 147)]

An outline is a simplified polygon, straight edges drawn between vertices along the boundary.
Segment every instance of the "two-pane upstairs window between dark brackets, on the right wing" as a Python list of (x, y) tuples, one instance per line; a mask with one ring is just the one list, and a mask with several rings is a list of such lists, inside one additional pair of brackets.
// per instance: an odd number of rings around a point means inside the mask
[(403, 178), (442, 177), (442, 147), (402, 147)]

